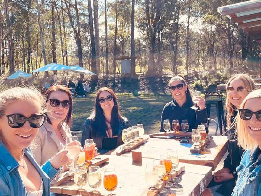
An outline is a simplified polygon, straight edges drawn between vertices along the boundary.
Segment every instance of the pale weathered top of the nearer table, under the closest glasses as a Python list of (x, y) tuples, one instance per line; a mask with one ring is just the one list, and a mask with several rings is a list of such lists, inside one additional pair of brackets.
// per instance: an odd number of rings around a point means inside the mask
[[(135, 164), (130, 157), (111, 155), (109, 163), (105, 163), (102, 170), (102, 176), (105, 168), (113, 167), (116, 169), (118, 177), (118, 186), (113, 191), (116, 196), (140, 196), (140, 195), (155, 195), (148, 193), (149, 186), (145, 181), (145, 168), (147, 163), (152, 163), (153, 160), (143, 158), (142, 164)], [(101, 165), (102, 166), (102, 165)], [(179, 184), (183, 186), (183, 196), (199, 196), (206, 188), (212, 179), (212, 168), (201, 165), (192, 165), (180, 163), (179, 167), (185, 166), (185, 172), (182, 172), (179, 177)], [(64, 184), (69, 185), (69, 184)], [(70, 185), (73, 185), (71, 181)], [(89, 185), (84, 186), (85, 189), (91, 191)], [(89, 193), (89, 196), (108, 195), (108, 191), (102, 185), (97, 189), (100, 194)], [(63, 196), (65, 194), (52, 194)], [(85, 194), (84, 194), (85, 195)]]

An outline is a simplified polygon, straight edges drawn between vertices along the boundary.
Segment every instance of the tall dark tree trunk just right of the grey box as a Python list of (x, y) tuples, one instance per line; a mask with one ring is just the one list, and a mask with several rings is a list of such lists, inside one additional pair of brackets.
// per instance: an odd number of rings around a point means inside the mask
[(130, 40), (130, 47), (131, 47), (131, 75), (136, 75), (136, 64), (135, 64), (135, 40), (134, 40), (134, 13), (135, 13), (135, 0), (131, 0), (131, 40)]

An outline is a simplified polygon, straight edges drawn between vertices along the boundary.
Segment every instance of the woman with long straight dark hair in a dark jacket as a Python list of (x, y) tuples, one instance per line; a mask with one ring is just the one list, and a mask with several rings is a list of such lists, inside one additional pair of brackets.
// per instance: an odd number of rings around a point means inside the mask
[(121, 132), (128, 125), (128, 119), (120, 114), (115, 93), (110, 88), (100, 88), (96, 95), (95, 108), (83, 126), (82, 146), (85, 145), (85, 139), (92, 138), (100, 153), (114, 149), (123, 144)]

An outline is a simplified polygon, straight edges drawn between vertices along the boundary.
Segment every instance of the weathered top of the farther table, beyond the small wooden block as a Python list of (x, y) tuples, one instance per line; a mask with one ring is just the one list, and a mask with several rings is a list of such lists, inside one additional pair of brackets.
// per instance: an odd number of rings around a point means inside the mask
[[(180, 162), (210, 166), (214, 170), (227, 152), (227, 136), (210, 136), (210, 138), (210, 142), (207, 145), (207, 151), (210, 153), (204, 154), (204, 158), (191, 155), (189, 147), (180, 145), (179, 141), (174, 139), (149, 138), (145, 144), (140, 145), (134, 150), (141, 151), (142, 158), (159, 158), (161, 154), (166, 154), (168, 150), (177, 150)], [(190, 144), (193, 144), (191, 139), (189, 141)], [(109, 151), (106, 154), (114, 155), (116, 152), (117, 149)], [(131, 157), (131, 153), (127, 152), (121, 156)]]

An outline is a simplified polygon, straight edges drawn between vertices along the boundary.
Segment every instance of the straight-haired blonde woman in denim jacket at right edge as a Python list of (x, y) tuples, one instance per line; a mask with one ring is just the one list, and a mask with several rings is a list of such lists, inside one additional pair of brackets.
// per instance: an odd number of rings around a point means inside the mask
[(238, 144), (246, 151), (237, 167), (237, 184), (231, 196), (261, 195), (261, 90), (243, 100), (235, 122)]

